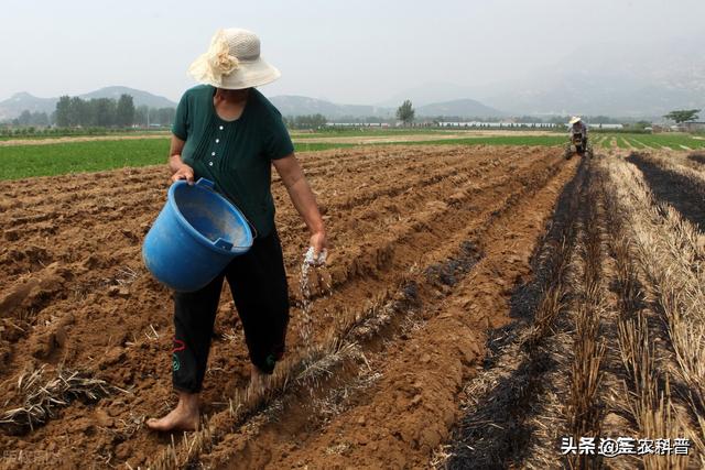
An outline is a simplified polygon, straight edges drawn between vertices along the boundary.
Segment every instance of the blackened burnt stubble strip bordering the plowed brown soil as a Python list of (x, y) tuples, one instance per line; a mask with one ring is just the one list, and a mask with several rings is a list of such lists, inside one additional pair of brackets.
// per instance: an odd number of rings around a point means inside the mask
[[(532, 258), (535, 274), (514, 289), (509, 314), (513, 321), (490, 332), (484, 370), (465, 385), (464, 417), (448, 444), (449, 468), (518, 464), (532, 444), (531, 417), (547, 415), (535, 397), (553, 390), (546, 376), (561, 365), (544, 345), (565, 308), (586, 173), (586, 165), (581, 165), (563, 189), (551, 227)], [(561, 431), (553, 426), (546, 423), (551, 431)]]

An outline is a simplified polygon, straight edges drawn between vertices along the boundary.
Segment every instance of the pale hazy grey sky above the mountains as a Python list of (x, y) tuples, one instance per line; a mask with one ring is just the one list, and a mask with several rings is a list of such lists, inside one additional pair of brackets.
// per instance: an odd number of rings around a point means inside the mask
[(177, 100), (216, 29), (239, 26), (282, 70), (267, 95), (375, 103), (430, 81), (510, 80), (584, 45), (686, 39), (703, 18), (705, 0), (4, 0), (0, 100), (110, 85)]

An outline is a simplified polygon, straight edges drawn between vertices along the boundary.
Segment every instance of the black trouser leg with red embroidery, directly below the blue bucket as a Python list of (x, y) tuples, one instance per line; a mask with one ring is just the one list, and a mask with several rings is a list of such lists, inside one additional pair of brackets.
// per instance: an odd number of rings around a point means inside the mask
[(225, 274), (200, 291), (174, 293), (172, 383), (175, 390), (200, 392)]

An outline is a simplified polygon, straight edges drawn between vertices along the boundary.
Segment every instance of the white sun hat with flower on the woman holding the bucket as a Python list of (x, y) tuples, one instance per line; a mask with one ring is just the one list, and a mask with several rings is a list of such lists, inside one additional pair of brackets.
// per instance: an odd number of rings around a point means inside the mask
[(237, 28), (218, 30), (188, 73), (200, 84), (229, 90), (259, 87), (282, 75), (260, 56), (257, 34)]

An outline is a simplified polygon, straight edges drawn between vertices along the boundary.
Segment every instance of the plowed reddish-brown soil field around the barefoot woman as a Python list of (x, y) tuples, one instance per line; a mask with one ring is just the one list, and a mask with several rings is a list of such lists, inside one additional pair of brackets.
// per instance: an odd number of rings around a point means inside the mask
[(166, 170), (3, 183), (0, 416), (29, 407), (28, 381), (67, 389), (41, 419), (26, 409), (0, 425), (0, 468), (429, 464), (462, 416), (488, 330), (510, 323), (512, 293), (531, 278), (532, 255), (581, 161), (519, 146), (300, 159), (332, 245), (328, 266), (311, 280), (313, 332), (300, 335), (307, 232), (275, 178), (294, 306), (285, 360), (267, 393), (246, 393), (242, 329), (224, 289), (204, 426), (185, 435), (143, 425), (175, 403), (171, 297), (140, 255), (164, 204)]

